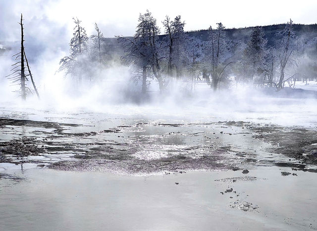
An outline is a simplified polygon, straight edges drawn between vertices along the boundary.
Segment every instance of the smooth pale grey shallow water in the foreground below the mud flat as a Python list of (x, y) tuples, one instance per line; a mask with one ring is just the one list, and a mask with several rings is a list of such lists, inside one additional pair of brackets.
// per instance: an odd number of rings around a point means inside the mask
[(0, 181), (0, 230), (317, 229), (317, 174), (281, 171), (290, 169), (149, 177), (25, 170), (28, 181)]

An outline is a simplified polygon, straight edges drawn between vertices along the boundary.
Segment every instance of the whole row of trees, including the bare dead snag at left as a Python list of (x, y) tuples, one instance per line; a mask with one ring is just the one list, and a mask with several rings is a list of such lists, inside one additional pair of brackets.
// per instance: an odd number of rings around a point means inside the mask
[[(97, 23), (95, 34), (88, 36), (78, 18), (73, 18), (73, 37), (69, 43), (69, 56), (60, 59), (58, 71), (73, 77), (75, 86), (82, 80), (93, 81), (107, 67), (111, 60), (105, 46), (105, 38)], [(35, 92), (32, 74), (23, 47), (23, 24), (21, 15), (21, 51), (17, 54), (19, 64), (8, 77), (18, 82), (23, 99), (26, 97), (25, 81), (30, 76)], [(195, 91), (197, 81), (206, 82), (213, 91), (226, 88), (233, 80), (241, 85), (254, 84), (258, 87), (281, 89), (288, 83), (294, 86), (298, 78), (305, 74), (298, 68), (300, 57), (298, 37), (290, 19), (285, 28), (276, 33), (276, 43), (268, 45), (262, 27), (254, 27), (245, 43), (229, 39), (225, 26), (219, 22), (215, 28), (207, 30), (207, 39), (190, 36), (184, 30), (186, 25), (181, 16), (174, 19), (166, 16), (162, 21), (163, 33), (157, 19), (150, 11), (139, 15), (133, 37), (116, 36), (122, 49), (120, 62), (131, 69), (131, 79), (141, 83), (141, 93), (147, 94), (150, 79), (156, 79), (159, 91), (176, 86), (185, 81), (189, 91)], [(306, 41), (306, 44), (310, 41)], [(311, 42), (313, 43), (313, 42)], [(28, 74), (24, 73), (24, 63)], [(299, 71), (302, 71), (300, 73)], [(306, 76), (307, 79), (307, 76)], [(29, 92), (32, 92), (29, 89)]]

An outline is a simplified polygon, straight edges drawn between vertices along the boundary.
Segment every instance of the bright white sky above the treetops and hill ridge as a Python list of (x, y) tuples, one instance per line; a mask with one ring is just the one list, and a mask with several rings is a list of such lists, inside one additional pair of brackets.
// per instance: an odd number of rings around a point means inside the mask
[(160, 26), (166, 14), (171, 18), (180, 14), (185, 30), (207, 29), (220, 21), (227, 28), (278, 24), (289, 18), (294, 23), (317, 23), (317, 0), (0, 0), (0, 7), (4, 13), (0, 26), (16, 22), (23, 12), (26, 20), (36, 17), (41, 24), (45, 19), (71, 31), (72, 17), (77, 16), (88, 34), (96, 21), (105, 37), (133, 35), (139, 13), (147, 9)]

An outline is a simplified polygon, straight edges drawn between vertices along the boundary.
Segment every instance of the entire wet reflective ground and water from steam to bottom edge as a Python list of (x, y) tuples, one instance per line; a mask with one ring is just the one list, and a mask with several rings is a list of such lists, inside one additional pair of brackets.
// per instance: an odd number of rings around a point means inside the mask
[(317, 229), (314, 110), (133, 110), (2, 108), (0, 230)]

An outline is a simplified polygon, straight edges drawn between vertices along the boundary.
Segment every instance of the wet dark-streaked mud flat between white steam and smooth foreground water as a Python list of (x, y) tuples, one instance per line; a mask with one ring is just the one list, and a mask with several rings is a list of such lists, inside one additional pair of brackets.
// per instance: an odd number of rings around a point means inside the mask
[(139, 175), (274, 165), (317, 172), (316, 129), (244, 121), (118, 120), (109, 127), (98, 121), (0, 118), (0, 163)]

